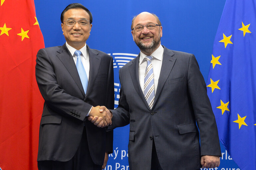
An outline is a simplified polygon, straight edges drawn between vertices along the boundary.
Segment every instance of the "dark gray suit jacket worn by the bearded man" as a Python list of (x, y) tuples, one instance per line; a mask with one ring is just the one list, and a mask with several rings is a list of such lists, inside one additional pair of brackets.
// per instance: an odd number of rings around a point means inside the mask
[(119, 71), (119, 106), (112, 111), (109, 127), (130, 124), (130, 170), (150, 170), (152, 137), (163, 170), (195, 170), (201, 167), (201, 155), (221, 156), (215, 117), (195, 56), (164, 47), (151, 110), (139, 85), (138, 64), (139, 55)]

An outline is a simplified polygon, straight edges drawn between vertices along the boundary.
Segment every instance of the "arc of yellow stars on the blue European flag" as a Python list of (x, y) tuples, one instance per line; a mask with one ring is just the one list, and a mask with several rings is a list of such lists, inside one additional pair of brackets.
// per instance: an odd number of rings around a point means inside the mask
[[(242, 28), (239, 28), (238, 30), (243, 31), (243, 36), (245, 36), (246, 33), (251, 33), (251, 32), (249, 31), (249, 29), (248, 29), (249, 26), (250, 26), (250, 24), (248, 24), (248, 25), (245, 26), (244, 23), (242, 22)], [(233, 44), (233, 42), (231, 42), (231, 40), (230, 40), (231, 37), (232, 37), (232, 35), (230, 35), (230, 36), (227, 37), (227, 36), (223, 33), (223, 39), (220, 40), (219, 42), (223, 42), (223, 43), (224, 43), (224, 46), (225, 46), (225, 48), (226, 48), (228, 44)], [(220, 56), (214, 57), (214, 56), (212, 55), (211, 63), (212, 63), (213, 69), (214, 69), (214, 67), (215, 67), (216, 64), (221, 65), (221, 63), (219, 62), (219, 58), (220, 58)], [(215, 89), (220, 89), (219, 86), (218, 86), (219, 80), (213, 81), (213, 80), (210, 78), (210, 81), (211, 81), (211, 83), (210, 83), (207, 87), (211, 87), (212, 93), (213, 93), (213, 91), (214, 91)], [(224, 103), (222, 100), (220, 100), (220, 103), (221, 103), (220, 106), (218, 106), (217, 108), (218, 108), (218, 109), (221, 109), (221, 112), (222, 112), (222, 115), (223, 115), (225, 111), (229, 111), (229, 109), (228, 109), (228, 104), (229, 104), (229, 102)], [(237, 118), (238, 118), (238, 119), (235, 120), (235, 121), (233, 121), (233, 122), (234, 122), (234, 123), (238, 123), (239, 129), (241, 128), (242, 125), (248, 126), (248, 125), (245, 123), (245, 118), (246, 118), (246, 116), (244, 116), (244, 117), (241, 118), (240, 115), (237, 114)], [(254, 124), (254, 125), (256, 126), (256, 124)]]

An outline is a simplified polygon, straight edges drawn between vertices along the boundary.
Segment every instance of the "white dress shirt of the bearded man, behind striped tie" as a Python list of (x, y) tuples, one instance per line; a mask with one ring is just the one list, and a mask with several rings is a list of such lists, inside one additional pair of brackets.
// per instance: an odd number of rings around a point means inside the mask
[[(145, 56), (147, 56), (147, 55), (140, 51), (138, 72), (139, 72), (139, 84), (140, 84), (143, 94), (144, 94), (144, 74), (145, 74), (145, 70), (147, 67), (147, 62), (144, 59)], [(163, 60), (163, 47), (161, 44), (151, 54), (151, 56), (153, 57), (151, 59), (151, 63), (152, 63), (153, 74), (154, 74), (154, 93), (155, 93), (156, 89), (157, 89), (157, 85), (158, 85), (158, 79), (160, 76), (162, 60)]]

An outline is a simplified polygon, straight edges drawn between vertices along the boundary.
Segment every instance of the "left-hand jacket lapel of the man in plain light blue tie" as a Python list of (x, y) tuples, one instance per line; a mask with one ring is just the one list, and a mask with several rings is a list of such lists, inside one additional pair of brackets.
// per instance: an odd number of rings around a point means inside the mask
[(74, 59), (69, 52), (66, 43), (60, 47), (60, 49), (57, 51), (59, 54), (57, 54), (57, 57), (61, 60), (61, 62), (64, 64), (70, 75), (73, 77), (74, 81), (76, 82), (78, 88), (85, 96), (85, 92), (83, 89), (83, 85), (81, 83), (76, 64), (74, 62)]

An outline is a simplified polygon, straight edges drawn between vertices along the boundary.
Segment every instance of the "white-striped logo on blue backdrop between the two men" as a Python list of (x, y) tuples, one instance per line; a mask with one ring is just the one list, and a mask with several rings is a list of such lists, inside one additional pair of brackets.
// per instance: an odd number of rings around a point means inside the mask
[(114, 63), (114, 81), (115, 81), (115, 108), (118, 107), (119, 92), (120, 92), (120, 81), (119, 81), (119, 69), (122, 68), (126, 63), (128, 63), (133, 58), (137, 57), (138, 54), (129, 53), (110, 53), (113, 57)]

